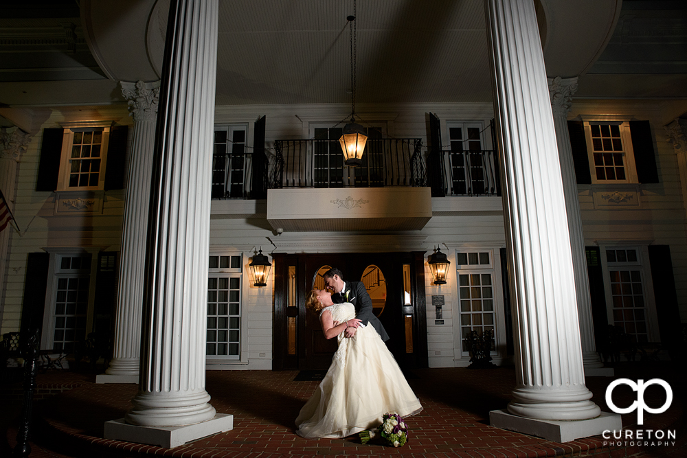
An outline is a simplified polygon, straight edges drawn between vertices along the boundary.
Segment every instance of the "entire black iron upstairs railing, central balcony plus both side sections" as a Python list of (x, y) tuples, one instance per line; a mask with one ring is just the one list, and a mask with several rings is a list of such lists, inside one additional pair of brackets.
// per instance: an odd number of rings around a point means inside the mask
[(500, 194), (493, 150), (422, 151), (421, 139), (368, 139), (363, 165), (343, 165), (339, 141), (276, 140), (274, 154), (214, 154), (212, 198), (266, 198), (282, 187), (431, 186), (432, 196)]

